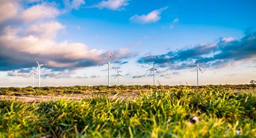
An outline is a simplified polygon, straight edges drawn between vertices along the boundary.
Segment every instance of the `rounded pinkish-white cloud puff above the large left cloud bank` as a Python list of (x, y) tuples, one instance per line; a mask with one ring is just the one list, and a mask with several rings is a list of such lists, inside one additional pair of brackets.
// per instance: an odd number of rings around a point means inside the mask
[(53, 19), (60, 14), (58, 8), (50, 5), (37, 4), (23, 11), (21, 20), (31, 22), (44, 19)]

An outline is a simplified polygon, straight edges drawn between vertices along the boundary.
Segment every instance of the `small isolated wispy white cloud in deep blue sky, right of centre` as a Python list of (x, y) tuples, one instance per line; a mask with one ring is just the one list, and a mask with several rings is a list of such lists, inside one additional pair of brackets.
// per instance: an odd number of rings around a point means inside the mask
[(147, 15), (145, 14), (142, 14), (142, 15), (133, 15), (131, 18), (130, 18), (130, 21), (132, 22), (136, 22), (136, 23), (150, 23), (150, 22), (156, 22), (158, 20), (161, 19), (161, 12), (166, 10), (168, 7), (163, 7), (163, 8), (160, 8), (159, 10), (154, 10), (150, 13), (148, 13)]

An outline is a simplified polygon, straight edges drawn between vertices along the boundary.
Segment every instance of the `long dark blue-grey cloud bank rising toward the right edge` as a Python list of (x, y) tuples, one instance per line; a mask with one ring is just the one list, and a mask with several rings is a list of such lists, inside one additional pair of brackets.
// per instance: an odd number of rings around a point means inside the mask
[(241, 39), (224, 38), (209, 44), (169, 51), (162, 55), (146, 55), (138, 59), (138, 63), (155, 62), (161, 67), (179, 70), (195, 64), (200, 56), (202, 67), (232, 67), (256, 61), (256, 32)]

